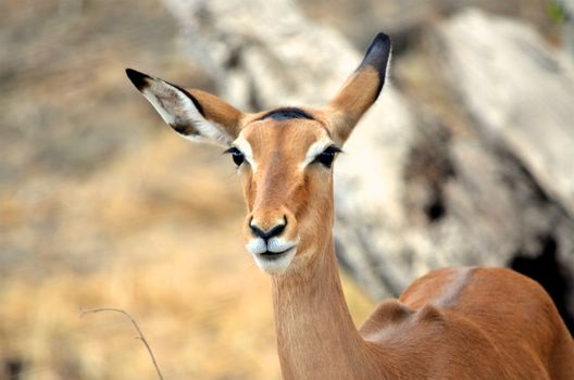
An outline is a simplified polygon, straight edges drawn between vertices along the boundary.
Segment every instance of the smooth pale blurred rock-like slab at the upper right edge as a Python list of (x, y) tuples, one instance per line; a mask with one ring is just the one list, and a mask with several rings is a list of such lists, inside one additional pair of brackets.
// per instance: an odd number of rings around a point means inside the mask
[(451, 84), (479, 131), (574, 217), (574, 66), (527, 25), (478, 11), (439, 35)]

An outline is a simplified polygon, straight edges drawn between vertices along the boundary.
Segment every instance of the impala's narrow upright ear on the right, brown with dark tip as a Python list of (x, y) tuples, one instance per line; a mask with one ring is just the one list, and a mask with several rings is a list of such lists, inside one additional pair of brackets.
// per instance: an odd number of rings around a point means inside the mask
[(342, 144), (361, 116), (377, 100), (387, 76), (390, 52), (389, 36), (379, 33), (366, 49), (363, 62), (324, 109), (335, 142)]

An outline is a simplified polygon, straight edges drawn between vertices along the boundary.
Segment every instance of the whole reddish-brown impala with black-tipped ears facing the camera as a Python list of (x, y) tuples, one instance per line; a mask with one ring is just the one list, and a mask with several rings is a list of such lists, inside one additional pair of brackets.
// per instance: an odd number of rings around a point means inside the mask
[(509, 269), (432, 271), (354, 327), (334, 252), (333, 164), (376, 101), (390, 50), (377, 35), (342, 89), (314, 109), (244, 113), (126, 72), (176, 132), (224, 145), (237, 165), (245, 246), (271, 275), (285, 379), (573, 380), (573, 340), (552, 301)]

